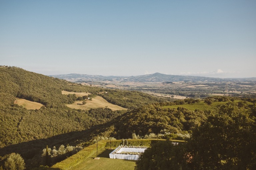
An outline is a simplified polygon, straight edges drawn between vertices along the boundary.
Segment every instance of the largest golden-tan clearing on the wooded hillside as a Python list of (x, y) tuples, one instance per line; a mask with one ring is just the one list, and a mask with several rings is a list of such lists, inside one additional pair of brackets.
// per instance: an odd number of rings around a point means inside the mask
[(113, 111), (127, 110), (127, 108), (109, 103), (107, 100), (105, 100), (100, 96), (96, 96), (96, 97), (93, 97), (92, 100), (85, 100), (85, 101), (86, 101), (86, 104), (84, 105), (82, 104), (83, 101), (75, 101), (72, 104), (66, 104), (66, 106), (70, 108), (82, 109), (82, 110), (90, 110), (91, 108), (98, 108), (98, 107), (106, 108), (106, 106)]

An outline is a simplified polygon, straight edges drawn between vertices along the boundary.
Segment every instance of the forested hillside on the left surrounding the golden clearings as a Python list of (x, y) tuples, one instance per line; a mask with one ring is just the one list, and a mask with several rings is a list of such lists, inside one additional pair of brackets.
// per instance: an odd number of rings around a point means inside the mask
[[(112, 111), (109, 108), (88, 111), (68, 108), (65, 104), (73, 103), (77, 98), (74, 95), (63, 95), (62, 90), (89, 92), (94, 96), (104, 97), (101, 92), (107, 89), (72, 84), (16, 67), (0, 67), (0, 167), (12, 152), (19, 152), (22, 155), (27, 168), (39, 166), (40, 152), (46, 145), (86, 145), (93, 139), (94, 135), (90, 135), (97, 125), (104, 124), (125, 112)], [(117, 100), (116, 96), (125, 93), (122, 90), (107, 91), (106, 97), (108, 96), (109, 102)], [(159, 101), (159, 98), (144, 93), (128, 93), (129, 100), (125, 100), (126, 108)], [(28, 110), (14, 104), (15, 97), (39, 102), (44, 106)], [(133, 100), (136, 100), (136, 104)], [(112, 103), (124, 106), (122, 102)]]

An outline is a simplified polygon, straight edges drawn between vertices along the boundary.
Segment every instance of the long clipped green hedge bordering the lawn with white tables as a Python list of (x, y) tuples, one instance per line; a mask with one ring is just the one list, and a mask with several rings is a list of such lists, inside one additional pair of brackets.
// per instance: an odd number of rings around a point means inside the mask
[[(126, 139), (128, 146), (150, 146), (152, 142), (157, 142), (157, 139)], [(126, 144), (126, 140), (124, 140), (124, 143)], [(159, 139), (159, 140), (165, 140), (165, 139)], [(182, 140), (172, 140), (173, 142), (184, 142)], [(115, 148), (119, 145), (123, 144), (123, 140), (111, 140), (111, 148)], [(105, 147), (110, 147), (110, 140), (101, 140), (98, 142), (98, 150), (101, 150)], [(53, 165), (51, 170), (53, 169), (59, 169), (59, 170), (69, 170), (73, 168), (74, 166), (78, 165), (85, 159), (89, 158), (93, 154), (95, 154), (97, 151), (97, 143), (90, 145), (75, 155), (70, 156), (69, 158), (56, 163)]]

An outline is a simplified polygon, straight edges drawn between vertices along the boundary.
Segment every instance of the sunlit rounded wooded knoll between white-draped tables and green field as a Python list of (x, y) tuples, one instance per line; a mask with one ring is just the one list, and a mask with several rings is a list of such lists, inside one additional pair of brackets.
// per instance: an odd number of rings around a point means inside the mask
[(132, 133), (139, 136), (154, 134), (187, 134), (189, 130), (200, 126), (206, 119), (203, 111), (190, 111), (178, 107), (167, 109), (150, 104), (125, 113), (115, 124), (118, 138), (131, 138)]

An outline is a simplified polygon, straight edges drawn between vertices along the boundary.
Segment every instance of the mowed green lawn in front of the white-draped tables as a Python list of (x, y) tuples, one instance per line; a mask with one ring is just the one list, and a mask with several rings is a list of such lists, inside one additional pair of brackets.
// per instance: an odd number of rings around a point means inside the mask
[(84, 162), (78, 164), (71, 170), (134, 170), (135, 162), (134, 160), (124, 160), (124, 159), (110, 159), (109, 154), (113, 150), (108, 150), (104, 148), (98, 151), (98, 157), (100, 159), (94, 159), (96, 153), (86, 159)]

